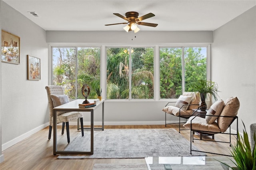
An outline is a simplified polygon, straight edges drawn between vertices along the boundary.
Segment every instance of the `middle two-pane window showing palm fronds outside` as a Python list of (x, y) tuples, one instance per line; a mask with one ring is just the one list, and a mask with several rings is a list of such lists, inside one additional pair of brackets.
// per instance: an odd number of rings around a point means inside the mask
[(154, 99), (154, 48), (107, 47), (107, 99)]

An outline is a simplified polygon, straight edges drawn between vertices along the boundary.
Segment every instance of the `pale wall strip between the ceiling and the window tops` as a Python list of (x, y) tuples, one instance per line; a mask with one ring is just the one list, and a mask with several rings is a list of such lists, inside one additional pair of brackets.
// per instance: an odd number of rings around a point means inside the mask
[[(135, 38), (136, 36), (136, 38)], [(46, 31), (48, 43), (212, 43), (212, 31)]]

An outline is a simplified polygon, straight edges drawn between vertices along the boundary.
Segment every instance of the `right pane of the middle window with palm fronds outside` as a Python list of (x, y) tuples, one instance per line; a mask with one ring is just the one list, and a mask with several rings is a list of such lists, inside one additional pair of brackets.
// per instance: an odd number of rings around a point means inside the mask
[(154, 99), (154, 48), (132, 48), (132, 99)]

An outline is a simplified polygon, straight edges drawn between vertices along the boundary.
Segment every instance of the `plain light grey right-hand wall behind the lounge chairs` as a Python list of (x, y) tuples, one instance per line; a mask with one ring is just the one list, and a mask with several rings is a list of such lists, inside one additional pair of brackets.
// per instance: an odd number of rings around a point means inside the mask
[(256, 123), (256, 6), (214, 31), (212, 80), (221, 99), (237, 96), (240, 101), (238, 128)]

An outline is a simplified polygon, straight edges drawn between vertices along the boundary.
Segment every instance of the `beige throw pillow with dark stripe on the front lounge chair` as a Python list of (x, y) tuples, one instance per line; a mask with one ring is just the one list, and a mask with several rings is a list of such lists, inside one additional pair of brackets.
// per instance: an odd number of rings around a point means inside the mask
[[(205, 120), (207, 124), (212, 124), (214, 121), (218, 119), (217, 116), (220, 115), (225, 103), (223, 100), (216, 101), (213, 103), (210, 107), (210, 109), (207, 111)], [(212, 116), (214, 115), (214, 116)]]

